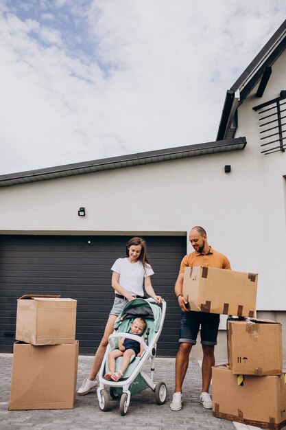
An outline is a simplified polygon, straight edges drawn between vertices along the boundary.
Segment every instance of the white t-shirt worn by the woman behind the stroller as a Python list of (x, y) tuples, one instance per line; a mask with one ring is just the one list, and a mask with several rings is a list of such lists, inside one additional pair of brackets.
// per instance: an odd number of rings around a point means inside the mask
[(143, 267), (141, 261), (130, 263), (128, 258), (118, 258), (111, 270), (119, 273), (119, 284), (131, 295), (144, 295), (143, 280), (147, 276), (154, 275), (150, 264)]

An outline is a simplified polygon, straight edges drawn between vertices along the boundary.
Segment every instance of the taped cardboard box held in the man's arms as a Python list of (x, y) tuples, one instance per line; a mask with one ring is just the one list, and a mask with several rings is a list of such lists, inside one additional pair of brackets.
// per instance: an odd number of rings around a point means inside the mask
[(257, 302), (255, 273), (213, 267), (186, 267), (183, 295), (191, 310), (254, 317)]

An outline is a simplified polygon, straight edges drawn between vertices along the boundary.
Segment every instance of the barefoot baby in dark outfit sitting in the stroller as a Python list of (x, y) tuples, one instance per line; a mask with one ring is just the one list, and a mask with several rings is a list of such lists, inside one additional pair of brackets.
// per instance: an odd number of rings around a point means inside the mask
[[(146, 327), (146, 321), (143, 318), (135, 318), (134, 321), (131, 324), (131, 334), (142, 336), (143, 332)], [(144, 337), (142, 337), (143, 340)], [(118, 349), (112, 350), (108, 354), (108, 367), (110, 372), (106, 373), (104, 375), (104, 378), (107, 381), (119, 381), (119, 379), (123, 376), (124, 372), (126, 371), (130, 359), (132, 355), (135, 354), (136, 357), (141, 357), (141, 354), (143, 353), (143, 346), (133, 339), (128, 339), (126, 337), (121, 337), (121, 339), (118, 342)], [(115, 359), (117, 357), (123, 357), (121, 361), (121, 367), (117, 372), (115, 372)]]

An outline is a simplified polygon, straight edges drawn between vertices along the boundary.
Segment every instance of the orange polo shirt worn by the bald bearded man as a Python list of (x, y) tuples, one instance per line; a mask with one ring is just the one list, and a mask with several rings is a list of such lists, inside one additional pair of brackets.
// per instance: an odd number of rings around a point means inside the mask
[(230, 262), (224, 254), (215, 251), (210, 247), (208, 253), (201, 254), (198, 251), (193, 251), (187, 256), (184, 256), (180, 265), (180, 272), (184, 273), (185, 267), (192, 266), (204, 266), (204, 267), (216, 267), (217, 269), (231, 269)]

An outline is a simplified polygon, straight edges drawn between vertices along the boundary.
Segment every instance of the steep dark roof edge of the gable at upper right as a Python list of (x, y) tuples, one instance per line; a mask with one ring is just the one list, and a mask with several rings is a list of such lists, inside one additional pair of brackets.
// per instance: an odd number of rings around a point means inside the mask
[(222, 117), (217, 131), (217, 140), (232, 139), (237, 129), (237, 108), (261, 79), (257, 97), (263, 95), (271, 74), (271, 66), (286, 48), (286, 20), (246, 67), (241, 76), (226, 91)]

